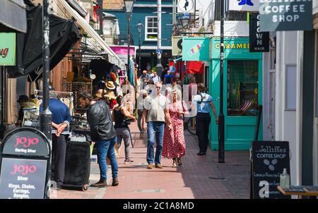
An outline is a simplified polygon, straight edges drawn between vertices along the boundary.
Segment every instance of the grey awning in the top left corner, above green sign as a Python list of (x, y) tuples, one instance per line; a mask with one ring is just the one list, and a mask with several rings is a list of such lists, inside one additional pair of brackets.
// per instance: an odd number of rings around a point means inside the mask
[(2, 0), (0, 4), (0, 31), (27, 32), (25, 4), (23, 0)]

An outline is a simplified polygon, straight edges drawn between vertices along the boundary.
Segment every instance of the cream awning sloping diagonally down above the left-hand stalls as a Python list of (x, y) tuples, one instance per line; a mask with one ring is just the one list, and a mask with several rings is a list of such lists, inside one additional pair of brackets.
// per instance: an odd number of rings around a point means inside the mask
[(83, 17), (81, 17), (76, 11), (74, 11), (73, 8), (71, 8), (71, 6), (69, 6), (69, 4), (66, 1), (64, 0), (55, 0), (55, 1), (57, 2), (59, 6), (65, 8), (66, 12), (69, 13), (69, 15), (73, 16), (73, 18), (76, 19), (77, 24), (81, 26), (83, 30), (87, 32), (89, 37), (94, 39), (95, 43), (98, 44), (98, 46), (100, 47), (102, 54), (107, 54), (108, 61), (110, 63), (117, 65), (119, 68), (122, 68), (122, 69), (125, 68), (124, 61), (119, 59), (117, 54), (114, 54), (114, 51), (110, 49), (108, 44), (105, 43), (105, 41), (100, 37), (100, 35), (98, 35), (98, 33), (90, 26), (89, 23), (86, 22), (86, 20)]

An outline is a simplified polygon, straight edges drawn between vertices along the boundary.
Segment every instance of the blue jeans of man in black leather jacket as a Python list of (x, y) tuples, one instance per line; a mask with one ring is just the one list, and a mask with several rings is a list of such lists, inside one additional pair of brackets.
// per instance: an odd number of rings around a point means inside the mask
[(107, 180), (106, 157), (110, 158), (110, 164), (112, 165), (112, 178), (117, 178), (118, 176), (117, 158), (114, 151), (114, 145), (116, 142), (116, 136), (111, 140), (96, 142), (96, 147), (98, 149), (98, 166), (100, 166), (100, 180), (102, 181)]

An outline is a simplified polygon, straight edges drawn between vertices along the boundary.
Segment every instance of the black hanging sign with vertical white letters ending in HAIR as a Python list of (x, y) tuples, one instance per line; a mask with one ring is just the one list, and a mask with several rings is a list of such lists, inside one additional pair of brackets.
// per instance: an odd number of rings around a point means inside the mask
[(249, 51), (269, 51), (269, 32), (261, 32), (259, 13), (249, 13)]

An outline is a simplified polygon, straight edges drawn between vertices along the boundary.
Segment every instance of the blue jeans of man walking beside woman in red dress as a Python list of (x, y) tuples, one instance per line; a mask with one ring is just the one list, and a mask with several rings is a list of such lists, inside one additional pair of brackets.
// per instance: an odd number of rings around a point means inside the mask
[(149, 121), (147, 123), (148, 145), (147, 145), (147, 162), (153, 164), (154, 148), (153, 144), (157, 143), (155, 150), (155, 164), (160, 164), (161, 152), (163, 152), (163, 133), (165, 122)]

